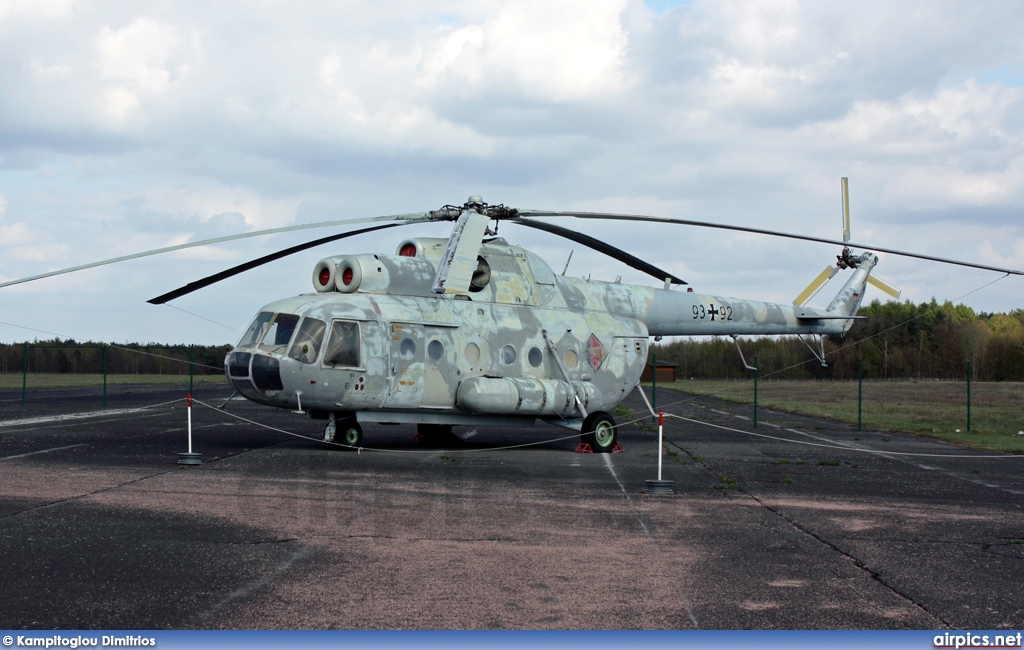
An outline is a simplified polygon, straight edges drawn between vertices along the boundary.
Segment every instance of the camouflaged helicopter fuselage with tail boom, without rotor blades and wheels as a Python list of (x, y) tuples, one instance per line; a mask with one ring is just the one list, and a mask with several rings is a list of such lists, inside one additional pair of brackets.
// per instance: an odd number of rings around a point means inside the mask
[(316, 293), (260, 310), (225, 359), (228, 380), (253, 401), (314, 416), (542, 419), (579, 429), (638, 385), (650, 336), (833, 334), (850, 322), (791, 305), (556, 275), (501, 239), (480, 247), (468, 293), (437, 294), (431, 280), (444, 242), (323, 260)]

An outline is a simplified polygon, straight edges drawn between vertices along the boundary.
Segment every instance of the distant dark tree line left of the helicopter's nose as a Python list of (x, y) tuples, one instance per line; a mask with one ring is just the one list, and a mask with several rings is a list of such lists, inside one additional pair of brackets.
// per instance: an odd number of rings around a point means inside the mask
[[(104, 344), (72, 339), (32, 343), (0, 343), (0, 372), (78, 373), (109, 375), (219, 375), (229, 345)], [(105, 347), (105, 352), (104, 352)], [(105, 356), (105, 359), (104, 359)]]

